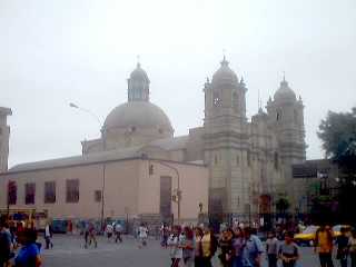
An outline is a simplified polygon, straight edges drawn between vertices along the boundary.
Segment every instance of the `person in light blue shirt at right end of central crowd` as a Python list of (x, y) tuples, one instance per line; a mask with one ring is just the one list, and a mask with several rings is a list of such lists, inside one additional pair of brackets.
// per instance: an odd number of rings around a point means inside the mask
[(246, 244), (243, 249), (243, 266), (244, 267), (260, 267), (261, 254), (264, 253), (263, 243), (254, 235), (254, 229), (246, 227), (244, 229)]

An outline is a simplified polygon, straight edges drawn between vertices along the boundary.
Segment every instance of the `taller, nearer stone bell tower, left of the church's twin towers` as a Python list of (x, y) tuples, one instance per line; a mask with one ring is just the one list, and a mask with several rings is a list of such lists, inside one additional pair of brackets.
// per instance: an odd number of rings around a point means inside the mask
[(209, 166), (210, 219), (243, 212), (247, 201), (244, 174), (248, 155), (246, 91), (243, 79), (224, 57), (211, 82), (205, 83), (204, 146)]

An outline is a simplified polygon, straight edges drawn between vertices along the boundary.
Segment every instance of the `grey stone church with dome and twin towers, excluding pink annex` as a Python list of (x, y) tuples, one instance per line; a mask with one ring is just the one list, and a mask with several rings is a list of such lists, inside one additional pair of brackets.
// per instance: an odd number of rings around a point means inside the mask
[[(182, 172), (185, 165), (201, 167), (200, 182), (208, 196), (205, 208), (217, 220), (247, 220), (251, 215), (273, 212), (278, 196), (294, 201), (287, 185), (291, 165), (306, 158), (304, 105), (285, 78), (266, 111), (260, 108), (249, 120), (247, 87), (224, 57), (211, 81), (204, 85), (202, 125), (179, 137), (174, 136), (164, 110), (150, 102), (149, 93), (150, 80), (138, 63), (128, 79), (128, 101), (108, 115), (100, 138), (82, 141), (82, 160), (102, 155), (123, 159), (130, 157), (126, 151), (135, 150), (138, 158), (180, 165)], [(20, 165), (1, 176), (27, 168), (36, 171), (31, 164)], [(192, 185), (199, 187), (199, 182)], [(199, 194), (195, 201), (205, 202), (204, 192)]]

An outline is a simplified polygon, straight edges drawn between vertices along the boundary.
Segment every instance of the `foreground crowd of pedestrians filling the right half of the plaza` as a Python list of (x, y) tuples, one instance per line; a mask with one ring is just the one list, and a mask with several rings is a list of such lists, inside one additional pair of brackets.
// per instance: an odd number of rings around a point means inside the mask
[[(170, 249), (171, 267), (209, 267), (215, 256), (222, 267), (260, 267), (263, 257), (268, 267), (296, 267), (300, 249), (294, 241), (295, 230), (276, 230), (267, 234), (263, 245), (251, 227), (222, 227), (217, 235), (207, 226), (162, 226), (161, 246)], [(349, 261), (356, 267), (356, 230), (342, 227), (336, 237), (330, 227), (320, 226), (313, 244), (320, 267), (334, 267), (333, 251), (340, 267), (348, 267)]]

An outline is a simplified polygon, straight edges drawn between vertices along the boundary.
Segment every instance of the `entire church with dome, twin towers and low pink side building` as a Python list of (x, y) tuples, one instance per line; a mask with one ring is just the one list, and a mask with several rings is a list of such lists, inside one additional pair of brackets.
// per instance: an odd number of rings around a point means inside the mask
[(249, 120), (247, 87), (225, 57), (204, 93), (202, 125), (175, 137), (167, 115), (150, 102), (150, 80), (138, 63), (128, 79), (128, 101), (107, 116), (100, 138), (82, 141), (81, 156), (2, 169), (1, 191), (13, 181), (18, 197), (11, 207), (76, 218), (130, 210), (140, 218), (174, 214), (195, 221), (202, 207), (212, 220), (246, 221), (274, 212), (280, 196), (293, 202), (291, 165), (306, 157), (301, 98), (284, 78), (266, 111), (260, 108)]

